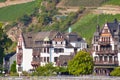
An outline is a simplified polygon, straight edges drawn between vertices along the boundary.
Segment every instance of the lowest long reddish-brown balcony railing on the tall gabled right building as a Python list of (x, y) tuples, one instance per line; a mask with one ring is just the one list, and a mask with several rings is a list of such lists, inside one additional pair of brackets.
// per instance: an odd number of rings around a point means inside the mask
[(95, 66), (118, 66), (118, 61), (94, 61)]

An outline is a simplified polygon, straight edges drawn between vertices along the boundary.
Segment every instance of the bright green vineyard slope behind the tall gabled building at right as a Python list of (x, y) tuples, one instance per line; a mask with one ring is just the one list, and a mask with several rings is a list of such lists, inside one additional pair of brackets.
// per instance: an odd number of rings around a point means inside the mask
[(95, 15), (88, 14), (78, 20), (71, 26), (73, 32), (77, 32), (80, 36), (86, 38), (88, 44), (91, 43), (93, 34), (96, 30), (97, 24), (102, 27), (106, 22), (112, 22), (115, 18), (120, 21), (120, 14), (118, 15)]

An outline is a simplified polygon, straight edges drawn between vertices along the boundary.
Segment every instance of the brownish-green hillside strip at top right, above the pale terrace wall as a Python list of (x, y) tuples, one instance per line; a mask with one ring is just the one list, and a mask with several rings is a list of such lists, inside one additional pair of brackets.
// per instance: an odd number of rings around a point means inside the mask
[(103, 4), (120, 5), (120, 1), (119, 0), (61, 0), (62, 6), (97, 7)]

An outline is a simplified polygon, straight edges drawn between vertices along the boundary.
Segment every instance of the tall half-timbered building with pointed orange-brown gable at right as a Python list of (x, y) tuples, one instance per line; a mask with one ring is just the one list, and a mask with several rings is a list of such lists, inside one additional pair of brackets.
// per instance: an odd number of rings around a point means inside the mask
[(92, 40), (94, 72), (97, 75), (109, 75), (120, 65), (120, 23), (107, 22), (102, 29), (97, 26)]

